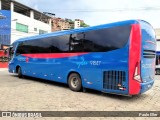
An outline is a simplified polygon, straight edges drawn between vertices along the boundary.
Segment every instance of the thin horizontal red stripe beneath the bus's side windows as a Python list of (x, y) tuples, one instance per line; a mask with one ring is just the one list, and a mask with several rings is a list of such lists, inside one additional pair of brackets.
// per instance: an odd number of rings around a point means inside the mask
[(40, 53), (40, 54), (22, 54), (22, 55), (30, 58), (66, 58), (84, 54), (87, 53)]

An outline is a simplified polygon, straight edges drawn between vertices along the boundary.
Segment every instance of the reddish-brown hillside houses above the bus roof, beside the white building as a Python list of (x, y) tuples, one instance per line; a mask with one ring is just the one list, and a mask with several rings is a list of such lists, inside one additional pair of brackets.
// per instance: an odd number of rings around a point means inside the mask
[(70, 30), (73, 29), (74, 23), (70, 19), (53, 18), (52, 31)]

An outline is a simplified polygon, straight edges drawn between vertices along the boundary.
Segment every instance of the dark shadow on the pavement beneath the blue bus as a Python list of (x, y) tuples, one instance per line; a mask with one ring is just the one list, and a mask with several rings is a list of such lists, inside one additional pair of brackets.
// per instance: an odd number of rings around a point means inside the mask
[[(11, 75), (11, 76), (18, 78), (17, 75)], [(21, 78), (21, 79), (24, 79), (24, 80), (27, 80), (27, 81), (35, 81), (35, 82), (39, 82), (39, 83), (44, 83), (44, 84), (48, 84), (48, 85), (53, 85), (53, 86), (69, 89), (67, 84), (59, 83), (59, 82), (55, 82), (55, 81), (50, 81), (50, 80), (45, 80), (45, 79), (40, 79), (40, 78), (34, 78), (34, 77), (29, 77), (29, 76), (24, 76), (24, 78)], [(71, 92), (73, 92), (73, 91), (71, 91)], [(124, 96), (124, 95), (117, 95), (117, 94), (111, 94), (111, 93), (103, 93), (101, 91), (97, 91), (97, 90), (93, 90), (93, 89), (86, 89), (86, 91), (84, 93), (93, 94), (93, 95), (97, 95), (97, 96), (101, 96), (101, 97), (107, 97), (107, 98), (111, 98), (111, 99), (128, 101), (128, 102), (134, 102), (134, 101), (137, 101), (141, 98), (143, 99), (145, 97), (148, 97), (147, 94), (139, 94), (139, 95), (134, 95), (134, 96)]]

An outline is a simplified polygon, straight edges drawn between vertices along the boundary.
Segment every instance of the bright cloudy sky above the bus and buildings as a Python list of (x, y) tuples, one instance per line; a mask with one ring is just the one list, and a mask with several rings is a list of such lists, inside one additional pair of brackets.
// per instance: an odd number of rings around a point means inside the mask
[(90, 26), (143, 19), (160, 28), (160, 0), (16, 0), (56, 17), (82, 19)]

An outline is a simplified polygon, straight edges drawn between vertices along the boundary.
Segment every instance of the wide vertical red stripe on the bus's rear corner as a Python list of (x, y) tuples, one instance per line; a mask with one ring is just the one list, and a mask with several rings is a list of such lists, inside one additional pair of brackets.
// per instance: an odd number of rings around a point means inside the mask
[(134, 72), (137, 62), (141, 60), (141, 29), (139, 24), (133, 24), (130, 34), (129, 48), (129, 94), (140, 93), (140, 83), (134, 80)]

